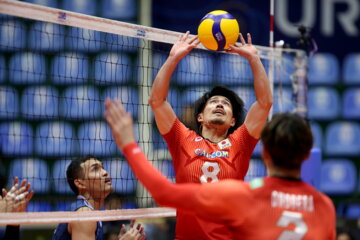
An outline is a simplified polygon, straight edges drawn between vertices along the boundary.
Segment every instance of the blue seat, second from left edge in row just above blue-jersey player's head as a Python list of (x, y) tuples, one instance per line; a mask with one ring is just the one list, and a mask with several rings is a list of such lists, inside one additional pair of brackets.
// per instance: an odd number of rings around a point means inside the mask
[(72, 156), (76, 140), (72, 125), (65, 122), (43, 122), (35, 132), (35, 151), (40, 156)]

